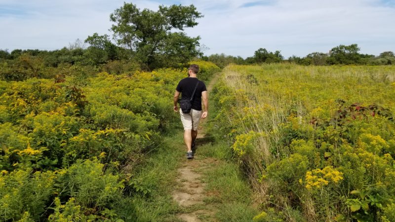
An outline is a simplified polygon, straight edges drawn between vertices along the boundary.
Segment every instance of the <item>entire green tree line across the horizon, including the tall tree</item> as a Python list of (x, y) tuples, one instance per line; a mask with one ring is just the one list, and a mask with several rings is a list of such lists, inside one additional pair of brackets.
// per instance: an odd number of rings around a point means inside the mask
[(339, 45), (329, 53), (313, 52), (305, 57), (292, 56), (287, 60), (279, 50), (271, 52), (266, 48), (259, 48), (246, 59), (223, 53), (203, 56), (200, 37), (188, 37), (183, 32), (185, 28), (195, 27), (196, 20), (201, 17), (193, 4), (161, 5), (158, 11), (153, 11), (140, 10), (132, 3), (124, 3), (110, 15), (114, 23), (110, 28), (112, 38), (94, 33), (83, 42), (77, 39), (69, 47), (52, 51), (15, 49), (8, 52), (7, 49), (0, 49), (0, 79), (24, 80), (64, 75), (83, 78), (102, 71), (121, 74), (184, 67), (194, 59), (210, 61), (222, 68), (230, 63), (291, 62), (306, 66), (395, 64), (394, 52), (383, 52), (379, 56), (361, 54), (357, 44)]

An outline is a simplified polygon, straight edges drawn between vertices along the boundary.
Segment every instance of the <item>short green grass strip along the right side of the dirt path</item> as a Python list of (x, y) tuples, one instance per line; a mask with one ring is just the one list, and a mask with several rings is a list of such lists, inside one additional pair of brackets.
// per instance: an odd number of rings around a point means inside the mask
[(207, 204), (206, 208), (216, 209), (217, 221), (250, 222), (259, 213), (252, 204), (251, 188), (237, 163), (232, 160), (229, 144), (219, 138), (216, 140), (198, 148), (198, 154), (203, 159), (216, 159), (201, 172), (208, 193), (203, 201)]

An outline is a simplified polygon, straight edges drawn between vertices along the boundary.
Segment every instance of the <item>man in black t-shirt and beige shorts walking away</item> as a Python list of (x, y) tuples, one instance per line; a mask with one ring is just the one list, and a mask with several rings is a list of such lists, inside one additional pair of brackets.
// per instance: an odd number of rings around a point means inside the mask
[[(208, 114), (208, 98), (207, 89), (204, 82), (197, 79), (197, 73), (199, 67), (196, 64), (192, 64), (188, 69), (187, 78), (181, 79), (178, 83), (176, 91), (174, 93), (174, 108), (175, 112), (178, 111), (177, 103), (178, 97), (181, 93), (181, 99), (191, 99), (192, 109), (189, 113), (183, 113), (180, 109), (181, 122), (184, 126), (184, 142), (187, 145), (187, 158), (194, 158), (192, 148), (195, 148), (195, 140), (197, 137), (197, 126), (199, 124), (200, 117), (206, 118)], [(196, 87), (196, 91), (195, 91)], [(193, 94), (195, 91), (195, 94)], [(201, 99), (203, 99), (204, 112), (201, 110)]]

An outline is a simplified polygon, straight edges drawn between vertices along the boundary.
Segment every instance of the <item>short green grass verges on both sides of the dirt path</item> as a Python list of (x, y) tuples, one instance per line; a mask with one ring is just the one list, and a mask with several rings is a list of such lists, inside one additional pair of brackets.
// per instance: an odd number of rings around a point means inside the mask
[[(204, 204), (190, 207), (180, 207), (173, 201), (171, 193), (177, 175), (177, 168), (184, 159), (184, 149), (181, 132), (172, 137), (165, 138), (163, 147), (152, 153), (136, 175), (141, 179), (143, 186), (149, 187), (149, 195), (134, 195), (125, 198), (119, 203), (123, 212), (121, 216), (130, 221), (147, 222), (176, 222), (180, 221), (176, 214), (192, 213), (197, 210), (214, 209), (215, 220), (223, 222), (249, 222), (258, 214), (251, 206), (252, 198), (250, 187), (240, 174), (236, 163), (229, 161), (230, 148), (223, 142), (212, 141), (198, 148), (198, 158), (215, 158), (218, 161), (211, 163), (202, 174), (202, 182), (206, 183), (207, 197)], [(203, 139), (204, 141), (204, 139)], [(227, 160), (228, 159), (228, 160)], [(134, 212), (134, 214), (130, 214)], [(128, 215), (128, 216), (126, 216)], [(210, 221), (207, 214), (198, 214), (202, 221)]]

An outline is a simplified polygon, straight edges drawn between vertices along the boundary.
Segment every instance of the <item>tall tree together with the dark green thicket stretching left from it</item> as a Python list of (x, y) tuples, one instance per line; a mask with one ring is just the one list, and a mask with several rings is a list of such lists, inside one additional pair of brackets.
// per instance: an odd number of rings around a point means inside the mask
[(200, 37), (188, 37), (183, 32), (185, 28), (195, 27), (196, 20), (201, 17), (193, 4), (160, 5), (158, 11), (153, 11), (123, 3), (110, 15), (114, 23), (110, 28), (112, 39), (94, 33), (84, 42), (77, 39), (69, 47), (58, 50), (15, 49), (8, 52), (0, 49), (0, 79), (89, 76), (101, 71), (120, 74), (184, 67), (203, 55)]

